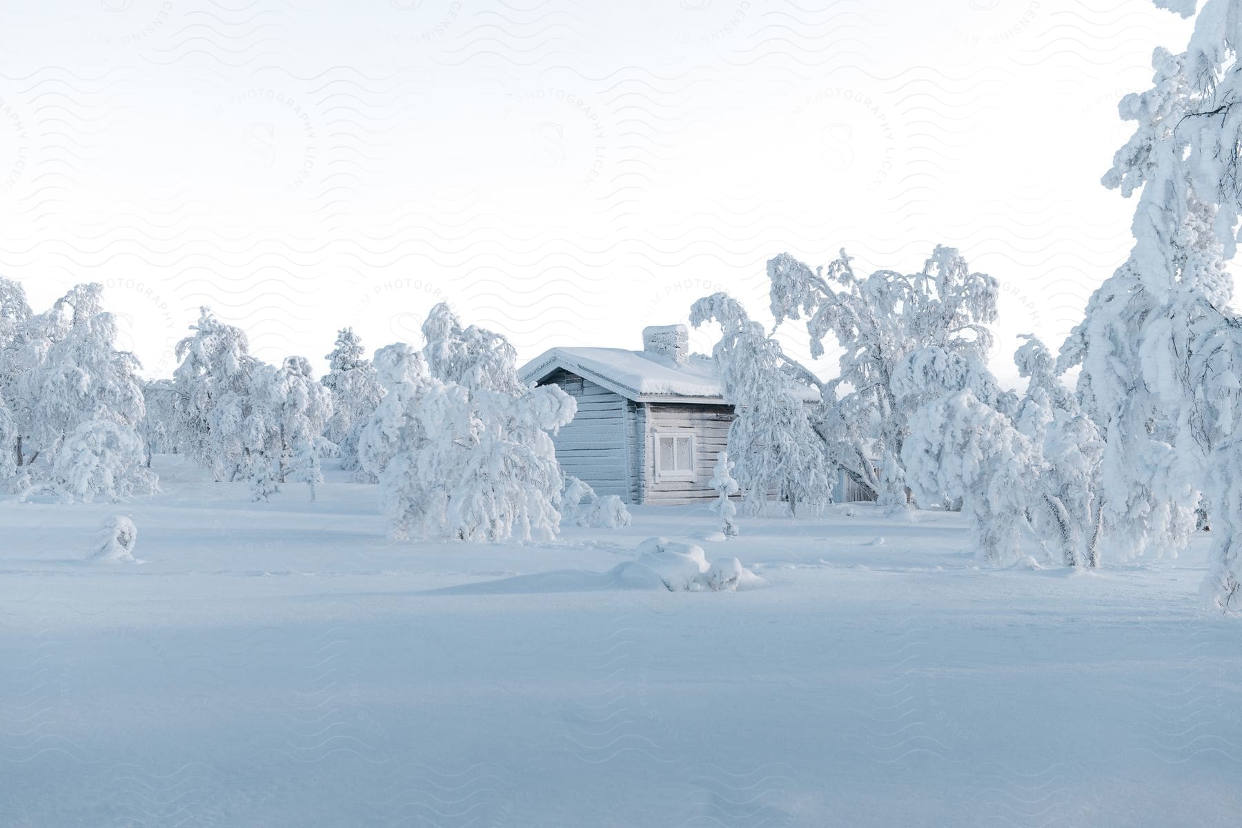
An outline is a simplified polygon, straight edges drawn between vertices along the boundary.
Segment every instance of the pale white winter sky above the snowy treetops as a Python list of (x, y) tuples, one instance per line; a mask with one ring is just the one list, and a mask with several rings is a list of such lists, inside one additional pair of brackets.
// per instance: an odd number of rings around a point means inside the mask
[(1189, 32), (1149, 0), (0, 14), (0, 272), (39, 309), (102, 282), (152, 376), (204, 304), (272, 361), (322, 367), (344, 325), (419, 345), (441, 299), (530, 358), (637, 348), (718, 289), (766, 317), (781, 251), (914, 271), (943, 242), (1001, 279), (1009, 377), (1124, 259), (1117, 101)]

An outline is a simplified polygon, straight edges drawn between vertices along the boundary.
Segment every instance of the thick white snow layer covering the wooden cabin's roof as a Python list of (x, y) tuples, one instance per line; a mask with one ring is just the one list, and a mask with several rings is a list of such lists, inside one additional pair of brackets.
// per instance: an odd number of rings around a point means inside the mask
[[(724, 402), (715, 360), (691, 354), (686, 365), (652, 351), (623, 348), (553, 348), (527, 362), (520, 375), (524, 382), (540, 382), (556, 369), (564, 369), (597, 382), (636, 402)], [(815, 389), (800, 389), (799, 396), (817, 400)]]

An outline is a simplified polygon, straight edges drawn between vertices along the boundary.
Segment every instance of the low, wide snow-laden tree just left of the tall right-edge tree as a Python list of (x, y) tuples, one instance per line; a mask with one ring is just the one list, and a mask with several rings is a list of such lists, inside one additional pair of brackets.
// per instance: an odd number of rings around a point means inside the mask
[(903, 443), (903, 462), (918, 473), (910, 489), (923, 506), (960, 502), (984, 560), (1012, 559), (1030, 531), (1064, 564), (1095, 566), (1102, 442), (1047, 348), (1026, 339), (1015, 354), (1028, 380), (1021, 400), (1000, 392), (972, 354), (923, 348), (899, 362), (892, 390), (912, 412)]

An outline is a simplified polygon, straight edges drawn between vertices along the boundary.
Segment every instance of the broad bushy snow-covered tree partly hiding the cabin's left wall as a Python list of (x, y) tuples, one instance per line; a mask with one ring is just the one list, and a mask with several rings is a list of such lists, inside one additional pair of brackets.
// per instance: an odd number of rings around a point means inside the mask
[(462, 328), (447, 305), (432, 309), (424, 334), (426, 358), (407, 345), (376, 351), (386, 394), (359, 439), (391, 534), (553, 538), (564, 480), (549, 432), (573, 420), (573, 397), (525, 387), (513, 346)]

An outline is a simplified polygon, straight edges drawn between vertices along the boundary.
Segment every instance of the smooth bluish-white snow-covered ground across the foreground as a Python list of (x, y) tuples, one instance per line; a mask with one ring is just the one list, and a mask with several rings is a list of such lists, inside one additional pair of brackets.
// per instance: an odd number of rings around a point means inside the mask
[[(0, 503), (2, 826), (1225, 826), (1242, 626), (1176, 561), (980, 570), (956, 515), (636, 508), (397, 542), (339, 472), (268, 504)], [(140, 565), (86, 560), (103, 520)], [(626, 587), (641, 540), (765, 585)]]

